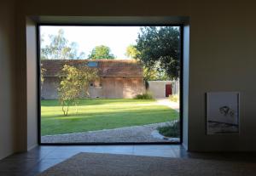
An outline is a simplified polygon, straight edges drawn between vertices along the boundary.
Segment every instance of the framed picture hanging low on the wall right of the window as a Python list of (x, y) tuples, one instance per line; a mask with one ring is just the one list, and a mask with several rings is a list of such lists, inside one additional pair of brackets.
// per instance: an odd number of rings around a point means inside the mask
[(239, 134), (238, 92), (207, 93), (207, 134)]

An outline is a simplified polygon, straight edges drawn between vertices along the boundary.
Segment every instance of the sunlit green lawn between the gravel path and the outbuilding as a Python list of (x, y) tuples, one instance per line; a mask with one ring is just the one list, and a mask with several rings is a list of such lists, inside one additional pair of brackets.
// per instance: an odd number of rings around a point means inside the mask
[(122, 128), (178, 118), (177, 111), (151, 99), (81, 99), (78, 113), (63, 116), (58, 100), (41, 101), (42, 135)]

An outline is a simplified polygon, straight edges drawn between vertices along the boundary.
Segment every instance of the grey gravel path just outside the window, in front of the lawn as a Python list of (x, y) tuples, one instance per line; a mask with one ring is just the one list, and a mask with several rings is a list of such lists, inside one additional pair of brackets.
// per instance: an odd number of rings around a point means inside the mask
[(157, 133), (157, 128), (172, 122), (161, 122), (127, 128), (104, 129), (85, 133), (48, 135), (42, 143), (137, 143), (137, 142), (178, 142), (179, 139), (165, 139)]

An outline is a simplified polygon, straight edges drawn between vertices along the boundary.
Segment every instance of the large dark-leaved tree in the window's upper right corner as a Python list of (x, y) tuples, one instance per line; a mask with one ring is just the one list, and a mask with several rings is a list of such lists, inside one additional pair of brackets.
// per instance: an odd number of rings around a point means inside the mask
[(179, 77), (180, 32), (172, 26), (142, 27), (137, 38), (137, 58), (152, 71), (156, 69), (170, 79)]

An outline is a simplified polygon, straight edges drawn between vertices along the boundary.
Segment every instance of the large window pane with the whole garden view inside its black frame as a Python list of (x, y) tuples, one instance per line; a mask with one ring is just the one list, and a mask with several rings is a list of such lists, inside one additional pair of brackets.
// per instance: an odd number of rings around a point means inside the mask
[(40, 143), (179, 143), (182, 26), (39, 26)]

